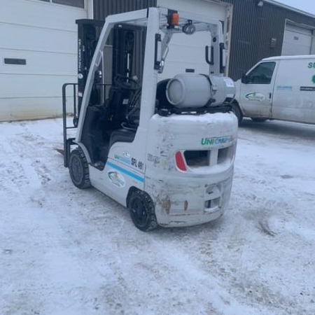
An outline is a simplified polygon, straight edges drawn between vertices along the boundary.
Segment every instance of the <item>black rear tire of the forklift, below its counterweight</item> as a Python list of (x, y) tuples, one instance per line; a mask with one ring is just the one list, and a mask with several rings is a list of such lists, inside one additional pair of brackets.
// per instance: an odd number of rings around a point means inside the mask
[(158, 228), (155, 208), (151, 197), (141, 190), (134, 190), (128, 201), (132, 222), (144, 232)]

